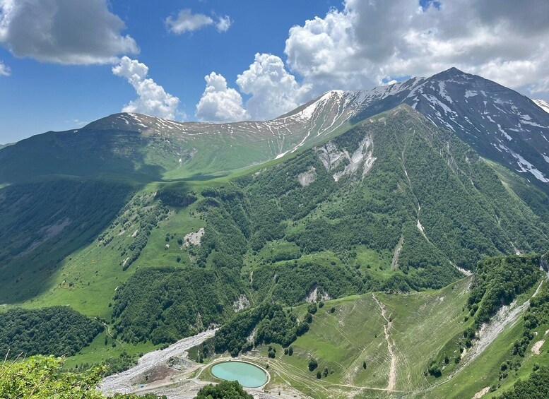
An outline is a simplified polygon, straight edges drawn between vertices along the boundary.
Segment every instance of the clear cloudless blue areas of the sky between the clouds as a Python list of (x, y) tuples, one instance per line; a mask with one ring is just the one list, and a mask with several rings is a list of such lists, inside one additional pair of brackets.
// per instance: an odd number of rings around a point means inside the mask
[[(341, 2), (114, 0), (110, 6), (126, 23), (123, 34), (134, 37), (141, 49), (136, 58), (149, 67), (156, 82), (179, 97), (188, 119), (196, 119), (196, 102), (206, 74), (218, 71), (234, 82), (237, 73), (254, 61), (256, 52), (283, 54), (291, 26), (325, 15), (330, 7), (341, 8)], [(203, 28), (175, 35), (167, 31), (165, 18), (182, 8), (228, 15), (233, 23), (227, 32)], [(0, 78), (0, 143), (72, 129), (77, 121), (120, 112), (135, 97), (131, 85), (112, 74), (110, 64), (45, 63), (20, 59), (2, 47), (0, 61), (11, 69), (11, 76)]]

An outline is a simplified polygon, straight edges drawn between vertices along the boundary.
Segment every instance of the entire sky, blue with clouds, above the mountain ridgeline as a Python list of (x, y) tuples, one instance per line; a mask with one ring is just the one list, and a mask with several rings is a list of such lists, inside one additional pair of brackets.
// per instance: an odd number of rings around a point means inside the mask
[[(450, 66), (549, 99), (547, 1), (493, 1), (0, 0), (0, 143), (122, 109), (268, 119)], [(177, 25), (191, 19), (202, 26)]]

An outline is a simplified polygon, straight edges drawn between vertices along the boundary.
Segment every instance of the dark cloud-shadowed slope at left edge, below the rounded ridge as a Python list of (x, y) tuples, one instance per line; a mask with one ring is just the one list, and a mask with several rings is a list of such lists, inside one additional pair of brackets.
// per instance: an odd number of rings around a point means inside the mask
[(69, 179), (3, 189), (0, 302), (32, 299), (49, 289), (64, 258), (93, 242), (133, 191), (128, 184)]

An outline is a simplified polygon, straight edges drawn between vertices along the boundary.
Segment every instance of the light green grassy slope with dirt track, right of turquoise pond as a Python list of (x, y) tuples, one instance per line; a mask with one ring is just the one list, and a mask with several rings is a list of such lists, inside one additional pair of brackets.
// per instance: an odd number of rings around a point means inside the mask
[[(490, 261), (510, 272), (516, 258)], [(276, 392), (290, 383), (313, 398), (473, 398), (486, 388), (487, 398), (497, 397), (549, 362), (544, 346), (549, 281), (537, 270), (538, 262), (525, 261), (525, 270), (536, 274), (535, 284), (516, 302), (499, 304), (472, 347), (463, 345), (461, 331), (471, 326), (466, 304), (473, 277), (432, 292), (376, 292), (324, 302), (310, 330), (292, 344), (291, 356), (276, 345), (280, 355), (269, 360), (273, 379), (266, 388)], [(510, 309), (521, 310), (513, 316)], [(298, 314), (305, 311), (297, 308)], [(516, 352), (527, 335), (524, 351)], [(261, 364), (265, 356), (260, 347), (244, 358)], [(307, 367), (311, 358), (319, 370), (329, 371), (320, 379)]]

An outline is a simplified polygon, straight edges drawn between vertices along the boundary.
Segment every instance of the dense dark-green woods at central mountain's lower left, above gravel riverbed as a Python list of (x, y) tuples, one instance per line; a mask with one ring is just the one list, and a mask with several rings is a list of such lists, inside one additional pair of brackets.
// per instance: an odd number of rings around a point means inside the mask
[(233, 314), (240, 286), (240, 270), (141, 268), (114, 296), (114, 332), (131, 343), (173, 343)]

